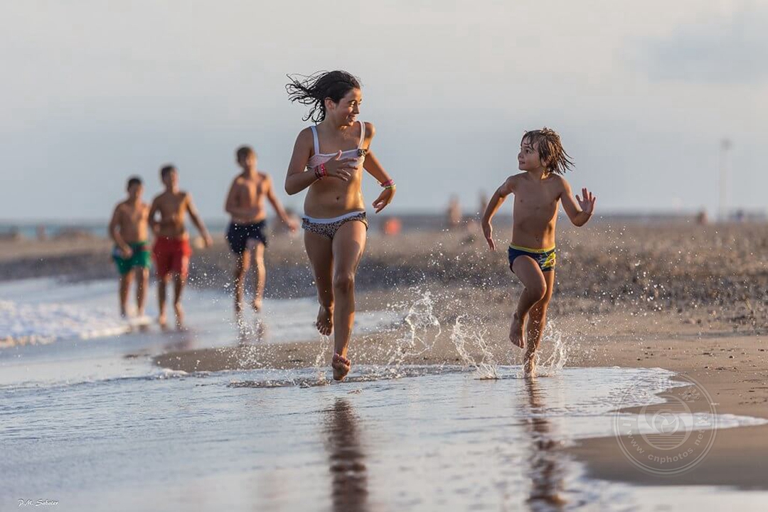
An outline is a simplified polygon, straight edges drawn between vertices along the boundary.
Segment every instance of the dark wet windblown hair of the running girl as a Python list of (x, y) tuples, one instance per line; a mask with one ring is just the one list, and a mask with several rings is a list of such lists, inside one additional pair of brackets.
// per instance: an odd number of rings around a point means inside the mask
[(360, 81), (346, 71), (318, 71), (310, 76), (303, 74), (288, 75), (290, 84), (286, 85), (290, 101), (312, 105), (304, 121), (322, 122), (326, 118), (326, 97), (339, 103), (346, 93), (360, 88)]

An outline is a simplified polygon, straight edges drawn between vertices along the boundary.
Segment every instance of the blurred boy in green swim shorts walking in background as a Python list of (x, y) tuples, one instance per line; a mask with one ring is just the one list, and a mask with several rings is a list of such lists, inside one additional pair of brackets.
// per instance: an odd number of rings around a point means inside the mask
[(136, 315), (144, 316), (144, 302), (149, 285), (151, 253), (147, 235), (149, 205), (141, 200), (144, 185), (141, 178), (131, 177), (127, 184), (128, 197), (114, 207), (109, 221), (109, 236), (114, 240), (112, 259), (120, 274), (120, 315), (127, 317), (128, 291), (136, 277)]

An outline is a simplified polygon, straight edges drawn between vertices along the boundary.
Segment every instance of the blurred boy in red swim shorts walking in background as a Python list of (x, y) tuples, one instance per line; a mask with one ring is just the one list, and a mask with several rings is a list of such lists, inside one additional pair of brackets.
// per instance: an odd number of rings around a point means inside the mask
[[(177, 329), (184, 328), (184, 310), (181, 309), (181, 291), (187, 280), (189, 259), (192, 256), (189, 234), (184, 226), (184, 217), (190, 214), (192, 223), (203, 236), (206, 247), (213, 240), (205, 229), (203, 220), (197, 215), (197, 210), (192, 203), (189, 193), (179, 190), (179, 174), (176, 167), (167, 165), (160, 170), (161, 180), (165, 191), (152, 200), (149, 212), (149, 224), (154, 232), (155, 242), (152, 253), (154, 264), (157, 267), (157, 299), (160, 314), (157, 323), (161, 328), (167, 328), (165, 317), (166, 287), (170, 276), (174, 276), (174, 311), (176, 313)], [(160, 213), (160, 220), (155, 216)]]

